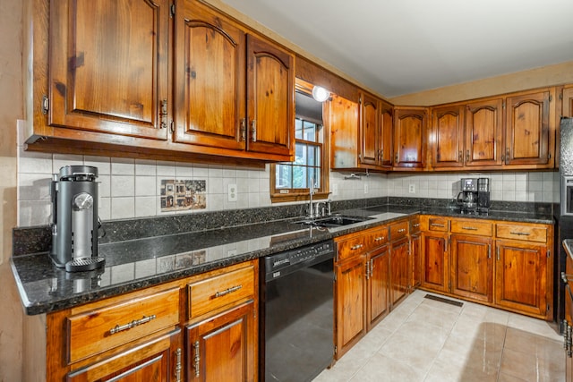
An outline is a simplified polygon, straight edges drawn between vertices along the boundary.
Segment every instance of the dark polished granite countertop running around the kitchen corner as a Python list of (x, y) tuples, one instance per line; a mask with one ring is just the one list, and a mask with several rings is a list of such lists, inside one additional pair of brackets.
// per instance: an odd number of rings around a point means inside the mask
[(24, 310), (26, 314), (35, 315), (133, 292), (313, 242), (330, 240), (417, 213), (553, 223), (551, 214), (543, 213), (491, 211), (487, 216), (475, 216), (447, 208), (390, 204), (349, 208), (338, 212), (369, 219), (353, 225), (321, 228), (295, 224), (293, 222), (297, 219), (289, 218), (201, 232), (100, 243), (98, 251), (100, 256), (106, 258), (106, 266), (93, 272), (66, 273), (52, 264), (45, 251), (13, 256), (11, 264)]

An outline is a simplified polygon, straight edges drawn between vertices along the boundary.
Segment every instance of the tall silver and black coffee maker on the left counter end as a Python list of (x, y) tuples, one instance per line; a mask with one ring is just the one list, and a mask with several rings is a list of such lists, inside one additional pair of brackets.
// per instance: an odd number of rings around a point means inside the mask
[(52, 249), (56, 267), (68, 272), (103, 267), (98, 257), (98, 168), (64, 166), (54, 174), (52, 200)]

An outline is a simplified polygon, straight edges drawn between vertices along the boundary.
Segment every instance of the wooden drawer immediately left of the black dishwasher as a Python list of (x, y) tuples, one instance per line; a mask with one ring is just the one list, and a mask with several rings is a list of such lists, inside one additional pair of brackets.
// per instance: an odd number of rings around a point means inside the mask
[(189, 319), (244, 301), (254, 295), (254, 267), (250, 264), (221, 275), (187, 284)]

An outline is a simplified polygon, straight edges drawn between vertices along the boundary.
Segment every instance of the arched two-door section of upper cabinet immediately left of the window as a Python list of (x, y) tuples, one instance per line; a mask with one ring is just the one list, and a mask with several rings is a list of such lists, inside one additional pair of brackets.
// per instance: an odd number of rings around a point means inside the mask
[(182, 4), (175, 21), (175, 141), (288, 160), (293, 55), (205, 5)]

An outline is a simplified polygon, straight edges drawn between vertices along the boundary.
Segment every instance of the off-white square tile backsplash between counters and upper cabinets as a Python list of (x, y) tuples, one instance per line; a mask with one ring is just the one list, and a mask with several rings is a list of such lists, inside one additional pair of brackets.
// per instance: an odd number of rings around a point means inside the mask
[[(102, 220), (189, 214), (271, 205), (269, 165), (264, 169), (156, 160), (90, 157), (24, 151), (18, 147), (18, 226), (47, 225), (51, 216), (49, 184), (60, 167), (98, 167)], [(348, 179), (330, 174), (330, 199), (386, 196), (451, 199), (463, 177), (489, 177), (492, 200), (559, 202), (559, 173), (370, 174)], [(201, 185), (184, 208), (166, 208), (165, 182)], [(201, 183), (202, 182), (202, 183)], [(163, 187), (163, 191), (162, 191)], [(184, 186), (185, 187), (185, 186)], [(229, 189), (235, 191), (229, 198)], [(413, 192), (411, 192), (413, 191)], [(184, 191), (182, 191), (184, 192)], [(232, 201), (230, 201), (232, 200)], [(183, 203), (183, 202), (182, 202)], [(300, 203), (300, 202), (295, 202)], [(293, 203), (290, 203), (293, 204)]]

